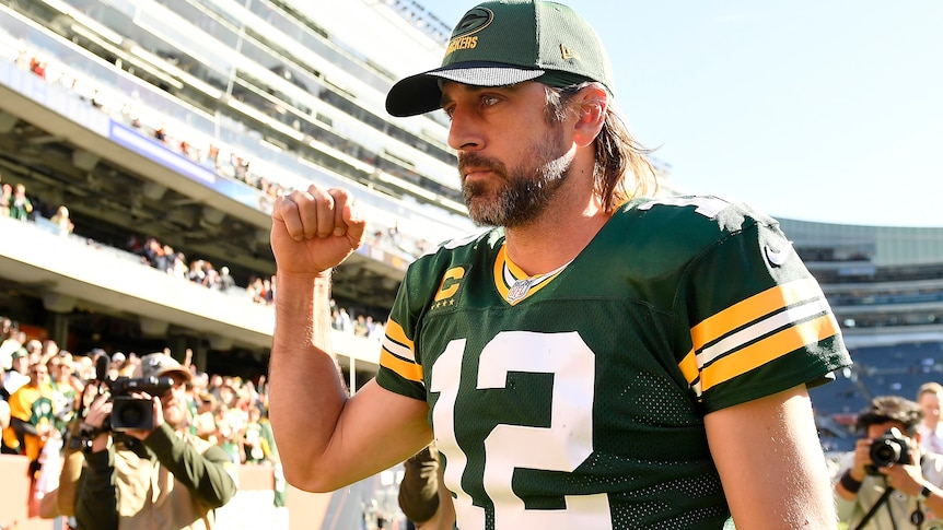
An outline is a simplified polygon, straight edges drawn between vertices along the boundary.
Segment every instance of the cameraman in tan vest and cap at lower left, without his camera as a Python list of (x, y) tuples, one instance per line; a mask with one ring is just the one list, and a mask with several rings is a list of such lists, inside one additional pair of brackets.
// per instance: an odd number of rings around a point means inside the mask
[(153, 402), (152, 428), (103, 431), (113, 402), (107, 393), (92, 402), (81, 429), (86, 466), (75, 499), (79, 528), (214, 528), (213, 510), (235, 495), (236, 485), (225, 452), (187, 429), (190, 373), (173, 357), (151, 353), (135, 375), (172, 377), (173, 388), (140, 396)]

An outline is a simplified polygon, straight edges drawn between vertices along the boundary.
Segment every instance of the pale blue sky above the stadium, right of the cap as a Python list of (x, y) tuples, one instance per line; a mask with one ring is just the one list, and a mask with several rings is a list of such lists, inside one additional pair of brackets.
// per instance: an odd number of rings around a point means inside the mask
[[(475, 4), (419, 1), (450, 24)], [(563, 3), (602, 36), (618, 106), (676, 186), (781, 217), (943, 227), (943, 2)]]

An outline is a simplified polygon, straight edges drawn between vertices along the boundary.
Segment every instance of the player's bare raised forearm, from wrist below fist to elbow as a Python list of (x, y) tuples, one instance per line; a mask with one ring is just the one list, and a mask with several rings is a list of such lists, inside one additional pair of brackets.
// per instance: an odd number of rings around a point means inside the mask
[(269, 367), (270, 420), (286, 478), (307, 488), (347, 401), (330, 346), (330, 271), (278, 274)]

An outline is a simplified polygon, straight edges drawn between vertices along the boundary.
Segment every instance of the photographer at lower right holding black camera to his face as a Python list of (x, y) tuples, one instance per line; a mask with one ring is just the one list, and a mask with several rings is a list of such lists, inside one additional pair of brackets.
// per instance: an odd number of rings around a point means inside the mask
[(941, 528), (943, 456), (920, 448), (922, 412), (896, 396), (874, 398), (858, 416), (862, 433), (835, 485), (849, 530)]

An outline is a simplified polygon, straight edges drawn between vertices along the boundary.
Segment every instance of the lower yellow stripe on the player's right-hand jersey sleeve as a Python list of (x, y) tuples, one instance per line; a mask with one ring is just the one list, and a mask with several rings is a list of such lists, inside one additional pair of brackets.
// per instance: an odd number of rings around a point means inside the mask
[(733, 354), (718, 360), (701, 372), (701, 390), (762, 366), (806, 344), (814, 344), (838, 332), (838, 322), (831, 314), (802, 322), (767, 337)]

